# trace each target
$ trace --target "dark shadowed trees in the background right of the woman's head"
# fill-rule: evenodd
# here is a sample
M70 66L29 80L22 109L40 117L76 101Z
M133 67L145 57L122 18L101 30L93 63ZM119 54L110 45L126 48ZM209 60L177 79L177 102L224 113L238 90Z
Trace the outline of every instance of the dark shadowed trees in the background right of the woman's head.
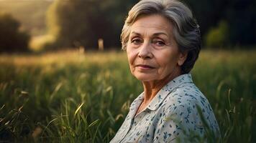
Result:
M198 23L201 26L201 34L204 41L218 39L221 32L213 29L218 27L221 20L227 22L229 29L227 41L230 46L256 44L256 1L255 0L184 0L191 6ZM204 39L205 38L205 39ZM207 43L206 43L207 44ZM225 44L221 44L222 46Z

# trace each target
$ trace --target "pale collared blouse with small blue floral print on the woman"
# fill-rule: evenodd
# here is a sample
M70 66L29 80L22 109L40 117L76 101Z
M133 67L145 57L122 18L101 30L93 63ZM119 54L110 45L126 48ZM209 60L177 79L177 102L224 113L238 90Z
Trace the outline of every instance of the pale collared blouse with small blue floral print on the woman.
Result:
M188 142L186 139L191 134L204 137L208 131L219 136L219 125L211 105L193 84L191 74L183 74L170 81L135 116L143 99L142 92L132 102L124 123L111 143Z

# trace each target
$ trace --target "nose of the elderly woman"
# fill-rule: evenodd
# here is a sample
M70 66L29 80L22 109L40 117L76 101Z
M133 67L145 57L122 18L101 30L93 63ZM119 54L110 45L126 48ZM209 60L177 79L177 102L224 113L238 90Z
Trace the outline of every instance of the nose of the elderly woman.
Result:
M140 46L140 51L138 56L142 59L151 59L152 58L152 51L151 51L151 47L150 47L150 42L144 42L141 46Z

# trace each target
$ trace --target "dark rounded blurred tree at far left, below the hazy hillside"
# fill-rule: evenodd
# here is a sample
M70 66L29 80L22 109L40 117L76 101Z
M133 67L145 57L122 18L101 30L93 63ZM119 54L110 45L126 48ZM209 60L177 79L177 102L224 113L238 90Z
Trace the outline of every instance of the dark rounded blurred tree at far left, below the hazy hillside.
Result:
M30 36L19 26L10 14L0 14L0 52L28 51Z

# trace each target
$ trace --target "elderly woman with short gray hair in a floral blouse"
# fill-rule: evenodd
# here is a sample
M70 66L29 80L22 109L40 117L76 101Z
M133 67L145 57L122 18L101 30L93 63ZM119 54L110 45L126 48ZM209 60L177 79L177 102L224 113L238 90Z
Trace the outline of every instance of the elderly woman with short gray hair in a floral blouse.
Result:
M191 10L180 1L142 0L129 11L121 39L144 92L132 102L111 142L218 137L213 110L189 74L201 49Z

